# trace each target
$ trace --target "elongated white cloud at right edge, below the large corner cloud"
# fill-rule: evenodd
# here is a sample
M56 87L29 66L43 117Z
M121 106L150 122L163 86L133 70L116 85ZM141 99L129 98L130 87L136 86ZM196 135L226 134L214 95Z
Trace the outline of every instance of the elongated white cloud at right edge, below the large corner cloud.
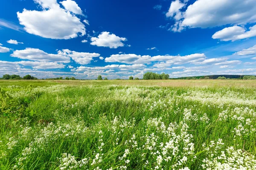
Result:
M246 31L241 26L232 26L215 32L212 35L213 39L220 39L221 41L236 41L256 36L256 25L249 28L250 31Z

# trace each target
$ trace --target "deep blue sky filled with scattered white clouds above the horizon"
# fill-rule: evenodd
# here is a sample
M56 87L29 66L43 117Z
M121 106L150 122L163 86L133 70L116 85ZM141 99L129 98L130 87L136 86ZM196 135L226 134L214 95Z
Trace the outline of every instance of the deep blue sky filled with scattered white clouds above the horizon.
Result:
M0 76L256 75L255 0L6 0Z

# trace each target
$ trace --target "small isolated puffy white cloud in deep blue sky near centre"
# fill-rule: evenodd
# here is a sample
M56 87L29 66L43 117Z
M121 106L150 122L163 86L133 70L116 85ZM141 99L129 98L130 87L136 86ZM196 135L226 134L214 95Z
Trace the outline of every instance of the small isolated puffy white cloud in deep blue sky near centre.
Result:
M97 45L99 47L118 48L123 47L122 41L126 41L126 38L118 37L115 34L109 34L109 32L102 32L98 37L91 38L91 45Z

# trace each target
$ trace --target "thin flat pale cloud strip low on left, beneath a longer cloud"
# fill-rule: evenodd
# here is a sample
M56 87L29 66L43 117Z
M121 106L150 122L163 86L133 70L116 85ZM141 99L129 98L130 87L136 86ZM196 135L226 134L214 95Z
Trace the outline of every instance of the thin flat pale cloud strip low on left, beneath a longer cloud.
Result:
M36 68L36 69L65 68L65 65L57 62L20 61L16 63L21 65L31 66L32 68Z

